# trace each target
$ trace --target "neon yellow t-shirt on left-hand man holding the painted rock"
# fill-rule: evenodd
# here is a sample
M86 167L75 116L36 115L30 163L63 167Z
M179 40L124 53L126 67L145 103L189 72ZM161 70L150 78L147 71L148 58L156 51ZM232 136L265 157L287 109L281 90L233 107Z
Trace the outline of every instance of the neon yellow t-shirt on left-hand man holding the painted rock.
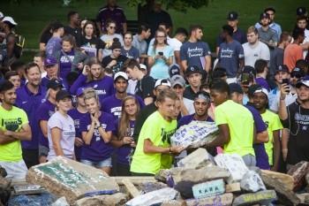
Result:
M131 172L155 174L160 168L170 168L172 156L164 156L161 153L145 154L144 140L149 139L155 146L168 148L170 147L170 136L175 133L176 127L176 121L166 121L158 111L150 115L141 128L139 142L131 164Z

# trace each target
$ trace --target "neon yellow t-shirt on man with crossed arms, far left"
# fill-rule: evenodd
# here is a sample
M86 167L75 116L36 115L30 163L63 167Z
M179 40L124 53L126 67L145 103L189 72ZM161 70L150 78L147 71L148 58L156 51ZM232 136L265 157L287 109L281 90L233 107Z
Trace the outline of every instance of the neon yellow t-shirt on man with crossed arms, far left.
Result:
M2 131L19 132L21 126L28 124L26 112L12 107L11 111L6 111L0 106L0 123ZM18 162L22 160L22 150L20 141L13 141L8 144L0 144L0 161Z

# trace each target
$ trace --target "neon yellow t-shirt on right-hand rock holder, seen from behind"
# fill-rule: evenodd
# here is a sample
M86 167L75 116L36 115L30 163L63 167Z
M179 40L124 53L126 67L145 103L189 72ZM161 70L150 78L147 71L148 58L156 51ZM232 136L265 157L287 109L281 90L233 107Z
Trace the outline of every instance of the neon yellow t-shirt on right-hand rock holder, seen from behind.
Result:
M243 105L231 100L215 108L215 125L228 124L230 127L230 142L224 145L224 154L255 156L252 148L253 123L252 113Z

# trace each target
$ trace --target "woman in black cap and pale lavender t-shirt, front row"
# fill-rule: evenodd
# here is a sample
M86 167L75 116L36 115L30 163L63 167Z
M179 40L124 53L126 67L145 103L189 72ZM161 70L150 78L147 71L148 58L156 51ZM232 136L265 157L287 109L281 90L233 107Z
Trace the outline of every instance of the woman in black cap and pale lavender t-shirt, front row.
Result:
M72 95L66 90L60 90L56 95L57 112L49 118L49 156L52 160L57 156L76 160L74 155L75 129L74 121L67 114L72 107Z

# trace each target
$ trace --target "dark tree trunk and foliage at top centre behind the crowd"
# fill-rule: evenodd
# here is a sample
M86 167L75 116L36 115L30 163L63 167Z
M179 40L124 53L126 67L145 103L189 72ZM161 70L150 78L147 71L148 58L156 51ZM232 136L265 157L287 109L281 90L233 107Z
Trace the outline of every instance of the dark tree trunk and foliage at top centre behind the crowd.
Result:
M157 0L157 3L166 5L166 10L174 9L175 11L185 12L189 8L200 9L207 6L209 0ZM153 9L154 0L127 0L131 7L138 7L139 24L142 23L148 11Z

